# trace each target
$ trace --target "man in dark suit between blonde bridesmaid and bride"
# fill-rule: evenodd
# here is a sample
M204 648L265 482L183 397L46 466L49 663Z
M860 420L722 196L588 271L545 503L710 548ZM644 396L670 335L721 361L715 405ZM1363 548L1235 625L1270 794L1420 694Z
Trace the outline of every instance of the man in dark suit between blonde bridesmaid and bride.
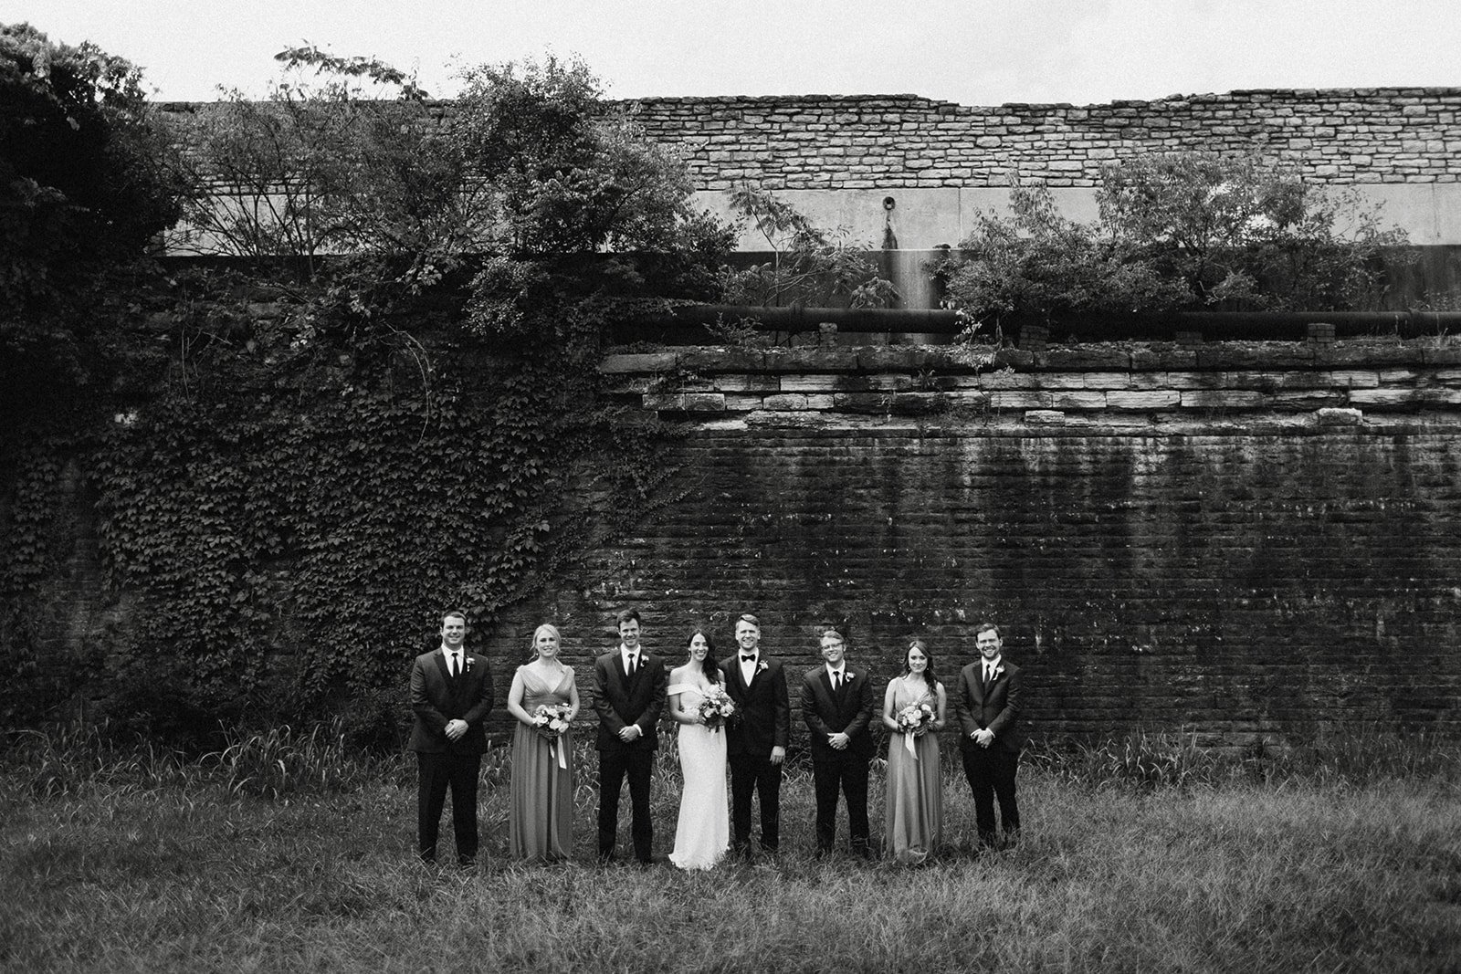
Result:
M619 790L630 780L634 815L634 859L650 863L655 827L649 815L649 783L655 771L655 733L665 708L669 676L665 662L640 648L640 616L633 609L619 613L619 647L593 663L599 714L599 859L614 859L619 831Z

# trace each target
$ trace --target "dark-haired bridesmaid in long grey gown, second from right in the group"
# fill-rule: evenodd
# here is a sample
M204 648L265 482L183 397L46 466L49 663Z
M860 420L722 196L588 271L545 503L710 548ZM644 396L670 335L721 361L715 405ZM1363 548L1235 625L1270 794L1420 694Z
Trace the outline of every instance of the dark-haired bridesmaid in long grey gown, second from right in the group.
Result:
M899 711L929 704L934 720L915 733L899 727ZM903 657L903 675L888 680L882 695L882 723L888 729L888 784L884 827L888 854L899 863L928 860L944 831L944 777L938 761L938 733L944 729L947 698L934 678L934 657L923 640L913 640Z

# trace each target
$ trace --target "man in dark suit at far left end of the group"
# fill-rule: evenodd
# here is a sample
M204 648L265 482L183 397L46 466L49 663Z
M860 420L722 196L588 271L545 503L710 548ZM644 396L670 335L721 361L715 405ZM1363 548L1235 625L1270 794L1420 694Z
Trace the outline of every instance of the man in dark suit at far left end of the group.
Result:
M416 845L421 859L437 860L437 835L447 787L457 862L476 862L476 783L487 751L484 721L492 710L492 675L487 659L468 653L466 615L441 616L441 647L411 666L409 748L416 752Z

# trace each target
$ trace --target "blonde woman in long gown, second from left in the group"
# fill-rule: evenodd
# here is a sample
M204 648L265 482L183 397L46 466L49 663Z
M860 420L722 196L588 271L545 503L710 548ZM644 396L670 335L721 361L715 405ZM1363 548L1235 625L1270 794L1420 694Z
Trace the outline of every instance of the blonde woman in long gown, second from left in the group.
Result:
M517 718L513 732L508 854L551 862L573 853L573 735L541 729L539 707L567 705L571 723L579 713L573 667L558 660L558 629L533 632L538 657L517 667L507 691L507 710Z

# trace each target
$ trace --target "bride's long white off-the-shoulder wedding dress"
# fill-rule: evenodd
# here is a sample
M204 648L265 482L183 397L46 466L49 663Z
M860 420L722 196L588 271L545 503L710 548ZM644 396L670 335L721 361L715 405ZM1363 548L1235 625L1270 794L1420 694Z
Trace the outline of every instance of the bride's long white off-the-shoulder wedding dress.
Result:
M704 699L694 683L675 683L666 691L682 694L681 707L691 710ZM669 862L681 869L710 869L730 847L730 803L726 797L726 732L704 724L679 724L679 771L685 787L679 794L679 821Z

